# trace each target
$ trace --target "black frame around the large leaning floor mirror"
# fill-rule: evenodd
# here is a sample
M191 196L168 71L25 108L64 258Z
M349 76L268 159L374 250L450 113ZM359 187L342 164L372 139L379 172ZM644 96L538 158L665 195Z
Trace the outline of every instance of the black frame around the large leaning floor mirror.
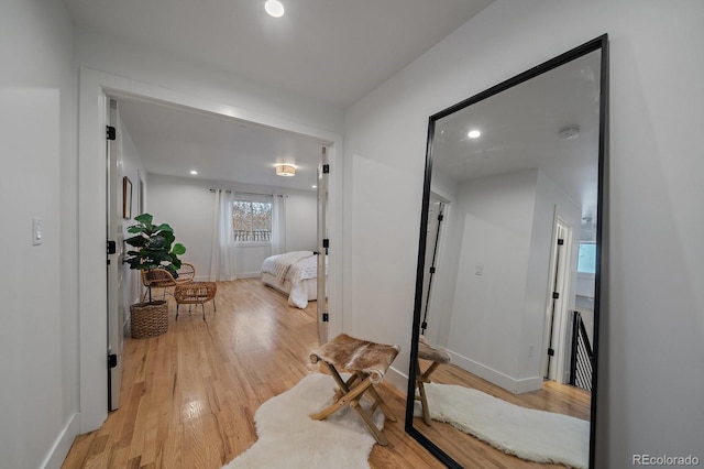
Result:
M422 211L420 216L420 237L418 248L418 264L416 270L416 297L414 303L414 324L411 330L410 343L410 366L408 371L408 389L406 394L406 424L405 429L414 439L428 449L438 460L449 468L459 468L462 466L452 459L435 443L428 439L422 433L414 427L414 406L416 393L416 375L418 367L418 337L420 334L420 317L422 306L422 281L424 266L426 258L427 225L428 225L428 206L430 203L430 182L432 176L432 142L435 140L436 121L447 117L455 111L466 108L475 102L482 101L491 96L502 92L508 88L519 85L528 79L535 78L543 73L566 64L578 57L586 55L594 51L602 51L601 56L601 89L600 89L600 123L598 123L598 190L597 190L597 216L596 216L596 266L594 275L594 346L593 346L593 374L592 374L592 397L590 408L590 468L593 469L595 461L595 439L596 439L596 390L597 390L597 371L598 367L598 335L600 335L600 303L601 303L601 281L603 277L603 239L604 237L604 214L605 205L605 186L604 174L608 162L608 34L603 34L592 41L588 41L564 54L558 55L534 68L530 68L513 78L509 78L496 86L493 86L473 97L458 102L438 113L430 116L428 120L428 143L426 146L426 172L422 189Z

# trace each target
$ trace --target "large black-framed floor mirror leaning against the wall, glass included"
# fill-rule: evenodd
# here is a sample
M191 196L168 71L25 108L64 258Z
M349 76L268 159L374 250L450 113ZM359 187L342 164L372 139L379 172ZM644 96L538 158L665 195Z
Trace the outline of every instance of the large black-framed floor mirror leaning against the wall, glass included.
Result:
M607 47L430 117L406 430L448 467L594 467Z

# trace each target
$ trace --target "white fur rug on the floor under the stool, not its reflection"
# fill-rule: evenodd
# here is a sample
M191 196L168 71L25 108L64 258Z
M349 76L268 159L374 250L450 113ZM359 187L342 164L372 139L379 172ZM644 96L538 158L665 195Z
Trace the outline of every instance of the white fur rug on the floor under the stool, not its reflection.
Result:
M258 439L223 469L369 468L376 440L356 412L345 406L324 421L310 418L332 403L336 389L332 377L309 374L266 401L254 415ZM384 414L374 418L382 427Z

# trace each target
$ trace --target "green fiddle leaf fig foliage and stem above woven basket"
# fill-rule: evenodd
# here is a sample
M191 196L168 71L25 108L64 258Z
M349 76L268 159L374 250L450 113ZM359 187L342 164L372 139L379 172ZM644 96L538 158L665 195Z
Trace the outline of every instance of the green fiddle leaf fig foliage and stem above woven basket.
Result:
M176 240L174 229L168 223L154 225L150 214L139 215L134 220L138 223L128 227L128 232L134 236L124 240L135 248L128 251L124 260L130 264L130 269L146 270L147 279L148 272L154 269L164 269L174 279L178 277L178 269L180 269L178 257L186 252L186 248L179 242L174 242ZM151 303L152 288L148 288L148 292Z

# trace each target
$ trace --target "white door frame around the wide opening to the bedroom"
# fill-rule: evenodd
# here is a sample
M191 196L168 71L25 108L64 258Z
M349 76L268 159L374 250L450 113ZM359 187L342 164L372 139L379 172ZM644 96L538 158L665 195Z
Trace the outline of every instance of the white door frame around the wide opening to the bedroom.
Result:
M292 122L256 109L243 109L224 102L198 98L180 91L147 85L105 72L81 67L78 92L78 327L79 327L79 433L99 428L108 416L107 374L107 285L105 240L106 219L105 129L108 96L147 99L190 108L201 112L276 128L319 140L328 148L331 161L342 155L342 137L328 130ZM342 164L330 172L328 211L331 252L329 263L328 325L331 335L342 328ZM98 220L98 221L96 221Z

